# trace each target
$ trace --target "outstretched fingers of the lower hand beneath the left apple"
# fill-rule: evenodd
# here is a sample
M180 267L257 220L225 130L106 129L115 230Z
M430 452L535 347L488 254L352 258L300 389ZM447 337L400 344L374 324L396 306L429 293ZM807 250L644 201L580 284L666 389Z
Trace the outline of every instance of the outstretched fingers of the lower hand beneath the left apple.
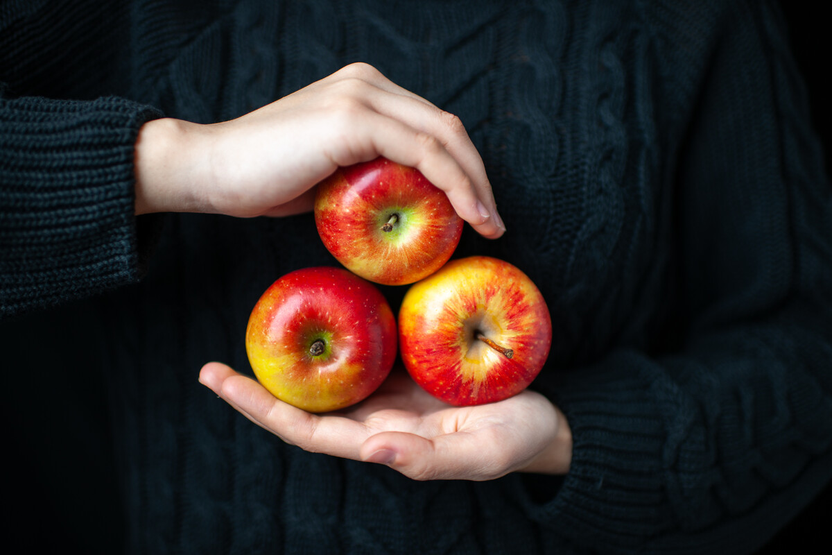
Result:
M369 435L362 424L353 420L334 414L310 414L284 403L254 379L225 364L203 366L200 382L247 419L287 444L312 453L359 460L359 449Z

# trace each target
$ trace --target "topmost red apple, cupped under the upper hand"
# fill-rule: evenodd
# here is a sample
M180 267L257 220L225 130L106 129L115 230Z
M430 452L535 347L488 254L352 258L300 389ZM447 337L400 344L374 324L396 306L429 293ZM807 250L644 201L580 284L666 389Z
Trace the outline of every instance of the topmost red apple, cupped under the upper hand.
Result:
M397 220L385 231L393 215ZM341 264L384 285L433 274L453 255L463 231L443 191L417 169L383 157L339 168L322 181L314 219Z

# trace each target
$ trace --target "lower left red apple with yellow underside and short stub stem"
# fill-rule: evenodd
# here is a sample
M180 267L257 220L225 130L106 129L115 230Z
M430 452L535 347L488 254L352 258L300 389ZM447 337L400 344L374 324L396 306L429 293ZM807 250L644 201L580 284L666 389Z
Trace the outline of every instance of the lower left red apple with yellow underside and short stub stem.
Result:
M313 354L317 340L323 352ZM295 270L257 301L245 349L260 384L314 413L372 394L396 357L396 323L384 295L342 268ZM320 345L320 344L319 344Z

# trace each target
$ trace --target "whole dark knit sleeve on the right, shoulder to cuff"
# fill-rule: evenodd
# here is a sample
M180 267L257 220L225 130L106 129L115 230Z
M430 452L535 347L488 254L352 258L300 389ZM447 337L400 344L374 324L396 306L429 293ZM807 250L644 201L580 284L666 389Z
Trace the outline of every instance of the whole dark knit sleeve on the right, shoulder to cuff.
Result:
M553 545L749 553L832 477L832 190L779 18L748 3L681 143L681 347L541 386L574 439L557 495L522 499Z

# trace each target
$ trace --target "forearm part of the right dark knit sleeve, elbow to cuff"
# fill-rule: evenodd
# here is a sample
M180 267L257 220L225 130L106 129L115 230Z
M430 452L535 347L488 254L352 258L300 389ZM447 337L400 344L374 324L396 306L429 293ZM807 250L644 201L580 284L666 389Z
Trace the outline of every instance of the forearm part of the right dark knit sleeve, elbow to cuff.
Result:
M830 405L815 378L828 334L800 330L801 306L795 320L724 330L685 357L620 350L536 380L573 446L556 493L521 490L529 517L599 553L758 547L832 474L820 463L832 456Z

